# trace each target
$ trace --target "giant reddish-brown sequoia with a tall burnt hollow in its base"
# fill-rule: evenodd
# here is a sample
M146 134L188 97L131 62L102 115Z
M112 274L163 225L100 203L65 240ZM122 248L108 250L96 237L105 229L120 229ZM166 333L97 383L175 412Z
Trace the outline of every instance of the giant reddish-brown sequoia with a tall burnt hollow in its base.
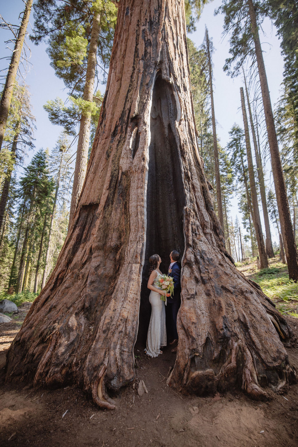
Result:
M104 408L134 379L147 259L182 256L170 386L255 398L292 376L284 318L236 270L197 150L184 2L121 0L86 179L57 265L7 358L6 379L76 383ZM273 322L273 324L272 324ZM143 329L145 328L145 329ZM293 373L294 374L294 373Z

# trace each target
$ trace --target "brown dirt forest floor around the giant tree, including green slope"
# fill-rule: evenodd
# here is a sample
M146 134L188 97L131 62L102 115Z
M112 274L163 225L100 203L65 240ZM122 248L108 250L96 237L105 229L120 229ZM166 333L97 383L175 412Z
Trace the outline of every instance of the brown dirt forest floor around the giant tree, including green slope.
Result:
M267 289L265 293L271 293L281 306L294 333L293 346L287 348L290 364L298 371L297 285L289 282L285 266L270 267L271 272L261 275L255 263L241 265L239 270L260 283L263 290L267 287L269 293ZM21 304L13 321L0 326L0 446L298 445L298 384L269 402L253 401L242 392L203 398L183 396L166 384L165 378L176 358L172 347L153 359L143 353L144 346L135 347L136 378L114 397L114 411L98 409L77 388L49 390L5 385L6 351L30 305ZM137 392L140 380L148 390L143 396Z

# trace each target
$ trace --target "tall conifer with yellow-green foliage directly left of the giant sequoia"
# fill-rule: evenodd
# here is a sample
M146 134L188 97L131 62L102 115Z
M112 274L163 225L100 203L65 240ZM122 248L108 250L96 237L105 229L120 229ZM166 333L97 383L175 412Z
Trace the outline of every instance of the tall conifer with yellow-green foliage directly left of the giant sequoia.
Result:
M87 168L92 114L97 112L93 102L97 56L105 67L109 62L117 9L110 0L74 1L67 8L53 0L50 6L41 0L34 5L37 32L32 39L36 43L46 39L51 65L70 89L71 100L80 109L70 225Z

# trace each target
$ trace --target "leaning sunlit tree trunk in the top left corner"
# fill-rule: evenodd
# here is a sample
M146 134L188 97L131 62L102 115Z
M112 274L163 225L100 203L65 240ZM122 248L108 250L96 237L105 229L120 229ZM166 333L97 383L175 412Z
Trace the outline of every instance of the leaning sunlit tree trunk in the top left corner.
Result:
M27 0L0 102L0 151L33 0Z

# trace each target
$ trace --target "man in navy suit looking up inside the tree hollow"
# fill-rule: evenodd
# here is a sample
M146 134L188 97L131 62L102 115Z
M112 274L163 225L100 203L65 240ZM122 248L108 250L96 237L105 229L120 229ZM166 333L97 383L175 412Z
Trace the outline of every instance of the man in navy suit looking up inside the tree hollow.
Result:
M168 298L168 305L170 308L170 318L172 323L172 334L173 341L170 343L171 345L176 344L178 342L178 333L177 333L177 313L181 304L181 283L180 283L180 274L181 274L181 264L178 262L180 258L180 253L176 250L173 250L170 254L171 264L168 270L168 276L172 276L174 279L174 294L172 298ZM172 349L172 352L177 352L177 346Z

